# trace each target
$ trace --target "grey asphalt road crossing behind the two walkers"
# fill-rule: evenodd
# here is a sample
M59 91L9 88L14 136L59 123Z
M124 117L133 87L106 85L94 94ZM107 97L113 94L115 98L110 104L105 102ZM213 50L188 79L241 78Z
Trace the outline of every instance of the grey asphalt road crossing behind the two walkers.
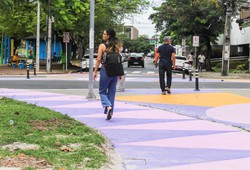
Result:
M152 64L152 59L145 60L145 68L129 67L124 68L127 72L125 86L127 89L156 89L159 88L158 69ZM150 73L150 74L147 74ZM179 74L179 78L177 74ZM0 77L0 88L11 89L88 89L88 80L63 80L47 79L40 76L40 79L26 79L25 76ZM195 88L195 78L189 81L189 77L183 80L180 73L173 73L172 87L176 89ZM98 81L94 82L94 88L98 88ZM200 89L249 89L249 82L237 81L204 81L199 80Z

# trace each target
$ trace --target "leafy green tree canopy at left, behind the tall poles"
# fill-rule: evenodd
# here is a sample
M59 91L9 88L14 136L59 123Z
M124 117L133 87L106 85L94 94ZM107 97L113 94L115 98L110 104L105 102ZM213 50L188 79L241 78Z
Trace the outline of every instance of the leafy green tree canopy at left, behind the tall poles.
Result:
M62 40L63 32L70 32L73 47L75 51L78 50L81 57L89 41L89 0L40 0L40 2L41 35L46 34L46 15L53 16L55 34ZM95 2L96 46L101 42L105 28L117 28L127 14L138 13L148 5L148 0L96 0ZM3 0L0 4L0 31L17 38L35 35L36 6L36 0Z

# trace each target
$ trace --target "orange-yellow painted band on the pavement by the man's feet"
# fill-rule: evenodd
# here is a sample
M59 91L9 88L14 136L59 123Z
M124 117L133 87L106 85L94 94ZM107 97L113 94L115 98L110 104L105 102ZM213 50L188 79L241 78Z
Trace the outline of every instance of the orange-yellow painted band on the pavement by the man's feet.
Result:
M250 98L231 93L192 93L192 94L170 94L170 95L131 95L117 96L116 100L176 104L189 106L218 107L224 105L250 103Z

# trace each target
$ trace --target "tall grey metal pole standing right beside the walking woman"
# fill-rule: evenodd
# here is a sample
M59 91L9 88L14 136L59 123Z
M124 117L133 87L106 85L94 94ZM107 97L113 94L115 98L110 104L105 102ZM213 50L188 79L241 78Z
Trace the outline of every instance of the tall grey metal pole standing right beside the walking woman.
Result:
M94 16L95 0L90 0L90 30L89 30L89 92L87 99L95 99L93 92L93 58L94 58Z

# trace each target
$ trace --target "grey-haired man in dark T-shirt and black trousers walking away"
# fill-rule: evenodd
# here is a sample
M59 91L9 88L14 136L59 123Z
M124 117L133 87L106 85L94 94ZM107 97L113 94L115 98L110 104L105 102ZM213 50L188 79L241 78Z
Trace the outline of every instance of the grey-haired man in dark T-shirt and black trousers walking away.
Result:
M159 67L159 80L162 95L171 93L171 83L172 83L172 69L176 69L175 66L175 48L171 45L171 37L164 37L164 44L156 49L156 55L154 59L154 64ZM165 74L167 75L167 80L165 83ZM167 86L166 86L167 84Z

